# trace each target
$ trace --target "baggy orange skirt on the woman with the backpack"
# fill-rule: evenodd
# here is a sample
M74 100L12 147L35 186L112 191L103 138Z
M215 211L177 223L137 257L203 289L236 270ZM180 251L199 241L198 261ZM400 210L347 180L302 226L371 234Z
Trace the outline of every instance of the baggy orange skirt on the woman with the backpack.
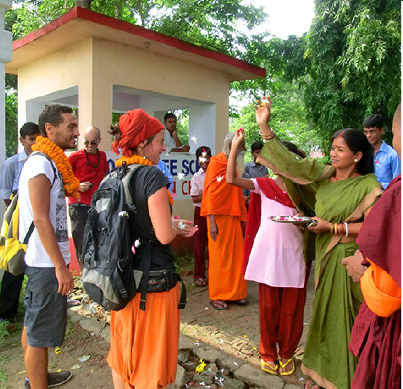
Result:
M174 383L181 315L179 284L169 292L147 293L145 311L140 293L110 315L108 364L126 389L162 389Z

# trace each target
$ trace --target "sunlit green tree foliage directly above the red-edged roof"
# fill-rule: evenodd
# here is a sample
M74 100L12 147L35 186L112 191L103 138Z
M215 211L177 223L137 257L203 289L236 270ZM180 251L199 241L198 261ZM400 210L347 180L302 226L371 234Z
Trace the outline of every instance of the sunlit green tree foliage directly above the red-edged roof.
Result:
M71 7L93 11L141 25L218 52L259 64L254 54L264 46L251 29L265 21L263 7L245 6L242 0L38 0L15 1L8 11L15 38L56 19Z

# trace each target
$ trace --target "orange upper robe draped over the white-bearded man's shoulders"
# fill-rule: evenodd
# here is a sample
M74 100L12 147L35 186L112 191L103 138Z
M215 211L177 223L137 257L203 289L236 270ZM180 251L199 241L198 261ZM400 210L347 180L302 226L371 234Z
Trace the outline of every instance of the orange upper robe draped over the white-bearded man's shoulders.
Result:
M225 180L227 159L223 152L210 159L204 180L202 216L225 215L247 219L245 200L241 188Z

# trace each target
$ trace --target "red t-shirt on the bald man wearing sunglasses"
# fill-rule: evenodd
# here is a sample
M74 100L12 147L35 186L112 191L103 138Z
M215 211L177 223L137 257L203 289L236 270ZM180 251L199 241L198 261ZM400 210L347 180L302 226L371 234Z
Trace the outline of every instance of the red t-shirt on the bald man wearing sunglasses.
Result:
M98 153L97 154L87 154L87 157L93 166L96 166L98 163ZM69 204L73 203L83 203L87 205L91 205L91 197L93 192L98 189L102 179L105 174L108 173L108 160L106 159L106 154L104 151L99 150L99 165L97 168L93 168L85 156L85 150L81 149L79 151L75 151L69 155L69 161L71 164L71 168L75 176L80 180L80 182L89 181L93 186L86 190L85 192L79 192L80 199L74 199L73 197L69 197Z

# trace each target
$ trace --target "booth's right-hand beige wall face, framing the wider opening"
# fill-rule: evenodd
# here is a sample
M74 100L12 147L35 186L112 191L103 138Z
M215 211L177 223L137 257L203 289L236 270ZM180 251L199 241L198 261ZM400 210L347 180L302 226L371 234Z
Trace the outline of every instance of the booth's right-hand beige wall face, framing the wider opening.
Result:
M108 85L121 85L216 103L216 144L221 148L229 119L229 79L222 72L101 39L94 39L93 64L94 95L102 86L105 91ZM106 114L100 112L98 119L106 120Z

